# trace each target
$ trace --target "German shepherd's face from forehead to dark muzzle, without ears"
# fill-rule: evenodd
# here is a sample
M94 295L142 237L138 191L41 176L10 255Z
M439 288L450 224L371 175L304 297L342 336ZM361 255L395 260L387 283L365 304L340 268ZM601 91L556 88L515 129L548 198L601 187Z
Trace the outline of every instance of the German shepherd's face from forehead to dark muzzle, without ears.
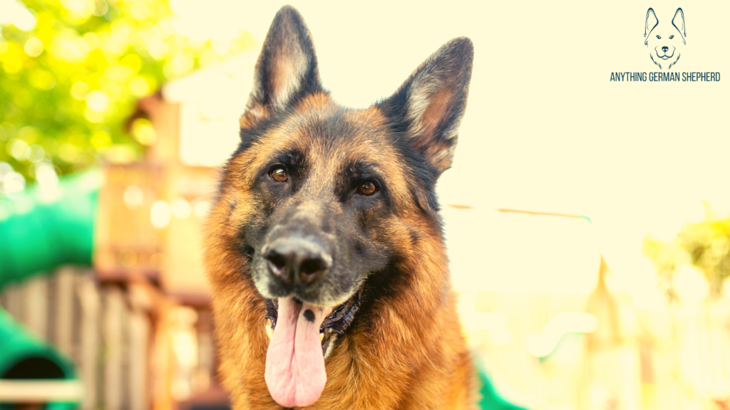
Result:
M368 272L387 263L390 252L377 235L383 229L380 221L388 220L394 209L388 175L377 155L364 150L344 153L353 152L356 142L361 147L372 144L358 138L359 125L344 120L340 109L316 114L287 122L283 147L272 150L256 169L251 186L251 196L257 198L253 220L266 223L246 225L242 233L255 250L252 274L262 295L293 294L334 306L349 298ZM281 170L286 179L277 181L272 171ZM376 190L363 193L364 184ZM272 260L272 252L282 258L299 253L304 258L301 263L314 260L323 272L308 282L299 277L297 266ZM278 277L276 263L294 271Z

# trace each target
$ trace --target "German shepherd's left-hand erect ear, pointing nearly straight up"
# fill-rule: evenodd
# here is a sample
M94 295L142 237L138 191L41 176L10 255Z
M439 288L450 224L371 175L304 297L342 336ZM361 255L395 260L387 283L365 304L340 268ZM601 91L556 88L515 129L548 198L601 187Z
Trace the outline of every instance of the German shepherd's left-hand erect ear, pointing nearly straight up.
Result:
M258 55L241 126L280 112L301 93L318 90L321 83L312 35L295 8L282 7Z

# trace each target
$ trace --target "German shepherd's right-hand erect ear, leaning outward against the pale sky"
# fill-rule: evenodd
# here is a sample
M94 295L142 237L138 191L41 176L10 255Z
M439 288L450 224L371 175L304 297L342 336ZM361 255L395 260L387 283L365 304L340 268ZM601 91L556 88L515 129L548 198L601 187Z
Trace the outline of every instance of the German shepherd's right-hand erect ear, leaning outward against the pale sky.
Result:
M453 39L424 61L393 96L378 104L438 174L453 161L473 59L472 41Z

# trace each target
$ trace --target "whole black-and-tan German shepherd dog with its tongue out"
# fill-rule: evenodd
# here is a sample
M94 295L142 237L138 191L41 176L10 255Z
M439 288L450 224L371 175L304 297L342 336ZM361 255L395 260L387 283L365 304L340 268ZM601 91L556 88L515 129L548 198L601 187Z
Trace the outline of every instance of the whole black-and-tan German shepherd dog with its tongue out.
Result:
M453 39L393 96L348 109L299 12L277 12L207 231L234 409L475 409L434 193L472 59Z

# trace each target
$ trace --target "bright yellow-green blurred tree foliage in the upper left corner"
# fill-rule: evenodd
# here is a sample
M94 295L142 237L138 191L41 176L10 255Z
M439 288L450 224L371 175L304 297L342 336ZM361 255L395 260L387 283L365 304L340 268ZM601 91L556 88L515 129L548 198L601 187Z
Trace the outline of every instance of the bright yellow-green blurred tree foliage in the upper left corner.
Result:
M138 98L253 46L244 31L226 42L177 33L167 1L23 5L34 27L0 26L0 187L8 172L31 182L44 166L67 174L139 158L155 135L145 120L127 124Z

